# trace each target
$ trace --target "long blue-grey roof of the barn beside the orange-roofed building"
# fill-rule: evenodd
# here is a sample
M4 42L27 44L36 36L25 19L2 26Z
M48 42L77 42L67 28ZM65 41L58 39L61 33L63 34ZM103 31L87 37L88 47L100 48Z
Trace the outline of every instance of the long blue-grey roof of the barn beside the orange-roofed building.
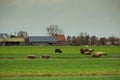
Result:
M55 43L57 39L53 36L29 36L29 42L49 42Z

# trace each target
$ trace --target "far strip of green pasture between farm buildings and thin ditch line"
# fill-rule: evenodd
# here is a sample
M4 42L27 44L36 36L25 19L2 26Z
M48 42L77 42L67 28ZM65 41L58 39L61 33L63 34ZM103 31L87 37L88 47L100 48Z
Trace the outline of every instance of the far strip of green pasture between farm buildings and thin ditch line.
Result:
M60 48L63 53L55 54L54 49ZM82 55L80 48L84 46L5 46L0 47L0 59L26 58L28 54L40 57L49 54L52 58L91 58L91 55ZM90 46L95 52L103 51L109 58L120 58L120 46ZM94 54L93 53L93 54Z

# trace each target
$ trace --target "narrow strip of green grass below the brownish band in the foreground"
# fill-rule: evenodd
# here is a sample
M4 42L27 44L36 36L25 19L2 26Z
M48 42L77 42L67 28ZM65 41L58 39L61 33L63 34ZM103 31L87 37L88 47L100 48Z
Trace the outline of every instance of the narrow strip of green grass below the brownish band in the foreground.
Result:
M3 77L0 80L119 80L120 76Z

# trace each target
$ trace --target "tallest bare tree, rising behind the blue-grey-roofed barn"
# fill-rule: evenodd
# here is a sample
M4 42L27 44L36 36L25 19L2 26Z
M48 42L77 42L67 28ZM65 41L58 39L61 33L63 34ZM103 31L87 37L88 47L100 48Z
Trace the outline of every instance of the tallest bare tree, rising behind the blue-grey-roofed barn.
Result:
M47 32L49 35L58 35L58 34L63 34L63 30L58 27L58 25L50 25L47 27Z

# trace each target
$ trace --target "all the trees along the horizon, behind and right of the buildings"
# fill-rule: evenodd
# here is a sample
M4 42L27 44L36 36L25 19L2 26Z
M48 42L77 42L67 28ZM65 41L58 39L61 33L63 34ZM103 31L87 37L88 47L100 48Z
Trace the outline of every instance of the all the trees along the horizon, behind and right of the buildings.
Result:
M63 29L59 28L58 25L50 25L46 28L49 36L55 35L64 35ZM22 36L25 39L28 37L26 31L19 31L17 36ZM15 35L11 35L11 38ZM98 38L97 36L89 36L88 33L81 32L79 36L70 36L66 37L66 45L80 46L80 45L120 45L120 38L115 36L109 36Z

